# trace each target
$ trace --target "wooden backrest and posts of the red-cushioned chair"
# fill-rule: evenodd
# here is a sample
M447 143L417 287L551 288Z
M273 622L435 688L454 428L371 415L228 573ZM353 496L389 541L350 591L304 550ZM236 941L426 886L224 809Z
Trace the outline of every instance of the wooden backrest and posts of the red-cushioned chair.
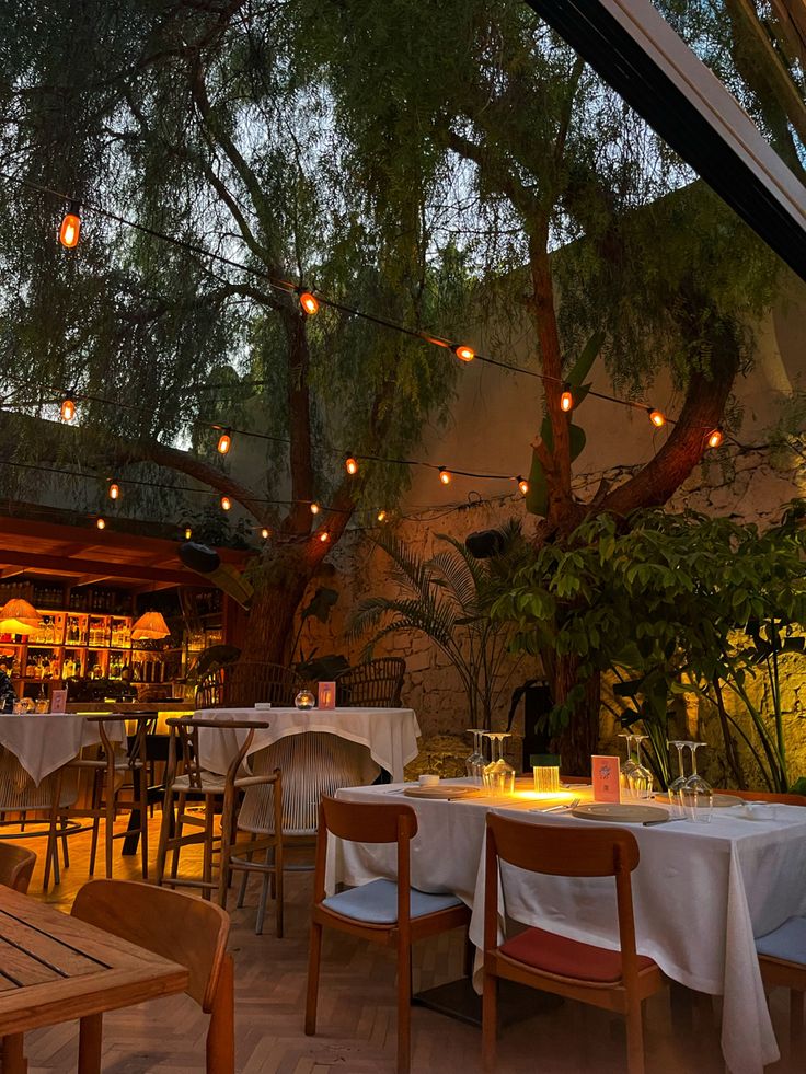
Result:
M484 947L496 946L498 862L519 869L561 877L607 877L615 880L619 938L625 984L637 981L635 921L630 874L638 864L638 844L620 828L574 828L530 824L487 813L484 884Z

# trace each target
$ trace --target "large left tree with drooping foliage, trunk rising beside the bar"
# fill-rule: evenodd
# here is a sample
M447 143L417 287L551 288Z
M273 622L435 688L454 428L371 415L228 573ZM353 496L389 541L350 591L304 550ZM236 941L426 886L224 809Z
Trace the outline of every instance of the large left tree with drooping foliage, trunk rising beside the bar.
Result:
M445 414L453 372L416 340L327 309L309 317L293 286L272 281L450 327L465 272L430 242L431 178L367 194L369 165L329 130L283 4L7 0L0 13L4 172L143 229L85 210L67 253L54 242L67 206L2 185L7 462L113 472L127 496L145 464L158 482L179 471L240 501L274 534L244 656L281 661L304 589L355 511L392 506L405 486L404 466L348 477L344 454L405 455L424 416ZM384 135L396 138L391 117ZM67 390L81 393L69 432L43 420ZM266 438L256 485L216 454L211 424ZM18 495L19 473L5 472ZM327 505L319 519L314 500ZM172 503L160 505L169 517Z

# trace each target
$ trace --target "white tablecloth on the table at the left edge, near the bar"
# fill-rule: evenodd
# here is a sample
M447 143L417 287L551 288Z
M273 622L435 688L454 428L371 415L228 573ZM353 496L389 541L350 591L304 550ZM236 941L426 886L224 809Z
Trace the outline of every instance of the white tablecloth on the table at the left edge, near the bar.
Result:
M126 725L123 720L110 721L106 735L113 742L125 742ZM100 741L99 725L82 716L60 713L0 715L0 746L14 754L37 787L46 775L72 761L85 746Z

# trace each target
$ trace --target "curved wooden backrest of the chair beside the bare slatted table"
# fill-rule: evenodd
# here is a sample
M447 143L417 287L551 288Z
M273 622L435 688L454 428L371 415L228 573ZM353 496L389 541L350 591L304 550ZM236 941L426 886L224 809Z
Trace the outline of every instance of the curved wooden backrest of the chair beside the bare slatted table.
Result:
M230 932L230 919L220 906L135 880L90 880L70 912L186 967L187 994L211 1011Z

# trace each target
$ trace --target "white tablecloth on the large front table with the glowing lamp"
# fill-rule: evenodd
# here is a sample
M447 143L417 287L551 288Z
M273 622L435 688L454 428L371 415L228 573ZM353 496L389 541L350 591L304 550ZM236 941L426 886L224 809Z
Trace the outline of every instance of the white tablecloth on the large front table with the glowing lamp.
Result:
M399 789L399 788L398 788ZM338 797L381 801L395 787L350 788ZM577 792L575 792L576 794ZM582 794L582 793L580 793ZM412 884L453 891L473 910L471 939L483 943L483 840L487 810L509 816L495 800L431 801L396 795L417 812ZM526 811L533 823L589 824L568 815ZM533 802L531 804L534 805ZM806 913L806 809L774 806L741 816L742 807L714 810L711 824L627 825L641 862L633 874L638 951L689 988L723 995L722 1044L733 1074L761 1074L779 1058L761 986L753 936ZM756 818L762 819L756 819ZM327 885L364 884L394 876L394 847L342 844ZM612 880L536 877L506 869L507 913L574 939L618 946Z

